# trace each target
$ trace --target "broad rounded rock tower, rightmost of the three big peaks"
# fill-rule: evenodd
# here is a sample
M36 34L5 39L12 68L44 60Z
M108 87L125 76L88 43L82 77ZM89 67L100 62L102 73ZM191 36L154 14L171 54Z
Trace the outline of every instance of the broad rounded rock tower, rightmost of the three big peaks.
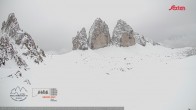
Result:
M135 38L133 35L131 26L123 20L118 20L113 31L112 44L122 47L135 45Z

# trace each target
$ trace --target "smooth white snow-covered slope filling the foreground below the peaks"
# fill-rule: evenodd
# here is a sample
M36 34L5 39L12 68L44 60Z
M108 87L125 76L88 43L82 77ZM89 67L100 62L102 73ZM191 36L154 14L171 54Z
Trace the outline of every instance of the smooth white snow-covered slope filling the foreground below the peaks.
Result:
M4 89L0 94L0 106L195 110L195 53L194 48L170 49L147 43L145 47L139 44L110 46L48 55L44 64L31 63L23 77L1 75L0 87ZM30 78L31 85L23 82L24 77ZM17 86L29 91L25 101L16 102L10 98L10 90ZM57 101L32 97L32 88L57 88Z

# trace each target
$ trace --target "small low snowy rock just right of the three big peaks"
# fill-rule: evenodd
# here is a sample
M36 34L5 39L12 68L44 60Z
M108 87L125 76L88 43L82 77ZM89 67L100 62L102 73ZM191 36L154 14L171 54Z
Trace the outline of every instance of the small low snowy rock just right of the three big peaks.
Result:
M138 43L142 46L146 46L147 40L145 39L145 37L143 35L140 35L138 33L134 33L134 38L135 38L136 43Z

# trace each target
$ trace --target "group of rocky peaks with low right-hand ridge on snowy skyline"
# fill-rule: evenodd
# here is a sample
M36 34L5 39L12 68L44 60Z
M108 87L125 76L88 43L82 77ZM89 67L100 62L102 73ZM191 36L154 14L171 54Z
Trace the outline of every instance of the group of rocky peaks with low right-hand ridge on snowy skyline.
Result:
M144 38L144 36L134 32L131 26L129 26L123 20L117 21L117 24L113 30L113 35L110 37L108 25L100 18L97 18L90 28L88 38L85 28L82 28L82 30L77 33L76 37L73 37L72 49L99 49L109 45L128 47L135 45L136 43L145 46L146 42L150 42L153 45L158 44L154 41L149 41Z

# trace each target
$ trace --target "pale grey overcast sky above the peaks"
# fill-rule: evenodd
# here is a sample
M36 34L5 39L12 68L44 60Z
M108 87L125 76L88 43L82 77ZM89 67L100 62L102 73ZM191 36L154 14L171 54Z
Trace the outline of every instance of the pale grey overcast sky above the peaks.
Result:
M172 5L185 11L169 11ZM0 0L0 22L14 12L20 27L46 51L71 50L72 37L100 17L110 29L118 19L135 32L170 47L196 47L195 0ZM112 36L112 35L111 35Z

